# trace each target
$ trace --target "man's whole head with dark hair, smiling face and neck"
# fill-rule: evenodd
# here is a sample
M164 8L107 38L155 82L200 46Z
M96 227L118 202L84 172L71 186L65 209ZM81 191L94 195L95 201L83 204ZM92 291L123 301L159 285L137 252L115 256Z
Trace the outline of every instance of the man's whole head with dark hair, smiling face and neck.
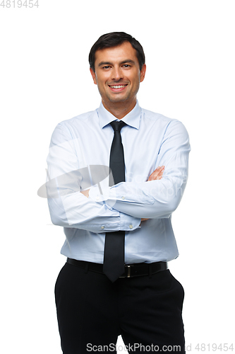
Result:
M104 107L122 118L134 108L140 82L145 77L143 47L131 35L108 33L92 46L89 62ZM119 117L117 110L123 112Z

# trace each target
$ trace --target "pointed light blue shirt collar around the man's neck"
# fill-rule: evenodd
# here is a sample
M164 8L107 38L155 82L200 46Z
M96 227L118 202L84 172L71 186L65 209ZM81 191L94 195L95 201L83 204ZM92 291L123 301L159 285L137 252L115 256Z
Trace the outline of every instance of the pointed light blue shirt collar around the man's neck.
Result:
M108 125L110 122L113 120L117 120L117 118L112 115L106 108L104 108L104 105L100 103L100 107L97 109L98 117L100 120L100 127L103 128L105 125ZM129 112L125 117L123 117L121 120L125 122L127 125L130 125L131 127L134 127L136 129L139 129L140 127L140 115L141 115L141 108L138 104L138 101L136 101L136 105Z

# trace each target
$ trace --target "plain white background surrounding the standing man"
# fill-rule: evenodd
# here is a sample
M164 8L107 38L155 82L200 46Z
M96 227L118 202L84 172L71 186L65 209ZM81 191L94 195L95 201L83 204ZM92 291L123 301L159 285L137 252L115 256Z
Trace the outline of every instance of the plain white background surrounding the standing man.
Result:
M64 234L52 225L37 189L45 182L56 124L100 105L88 52L100 35L116 30L133 35L145 50L140 106L181 120L191 139L188 185L172 216L180 256L169 264L186 292L186 346L200 353L194 348L205 343L204 353L210 353L212 343L230 345L234 1L39 5L0 6L1 353L61 353L54 282L65 262Z

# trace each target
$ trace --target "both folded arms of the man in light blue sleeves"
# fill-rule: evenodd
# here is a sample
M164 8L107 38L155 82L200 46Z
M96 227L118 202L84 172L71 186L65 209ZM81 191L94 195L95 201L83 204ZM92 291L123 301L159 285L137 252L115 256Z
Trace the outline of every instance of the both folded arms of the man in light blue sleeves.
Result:
M189 151L186 129L181 122L172 122L157 155L159 167L147 181L104 185L102 193L97 185L81 192L71 183L63 188L58 185L59 198L48 199L52 222L101 233L120 229L133 231L145 219L170 217L186 186ZM56 127L47 161L50 178L79 169L71 132L66 125ZM65 188L71 193L62 193Z

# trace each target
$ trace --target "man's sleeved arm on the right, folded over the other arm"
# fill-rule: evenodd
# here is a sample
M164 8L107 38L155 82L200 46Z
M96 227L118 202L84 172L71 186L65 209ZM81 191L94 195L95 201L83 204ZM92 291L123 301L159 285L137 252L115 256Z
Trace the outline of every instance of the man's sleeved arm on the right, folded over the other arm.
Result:
M147 142L146 142L147 144ZM171 120L159 149L157 166L165 166L161 179L142 183L121 182L102 190L97 186L89 191L89 197L101 200L119 212L140 218L167 218L181 201L188 179L188 132L181 122ZM146 149L147 151L147 149Z

